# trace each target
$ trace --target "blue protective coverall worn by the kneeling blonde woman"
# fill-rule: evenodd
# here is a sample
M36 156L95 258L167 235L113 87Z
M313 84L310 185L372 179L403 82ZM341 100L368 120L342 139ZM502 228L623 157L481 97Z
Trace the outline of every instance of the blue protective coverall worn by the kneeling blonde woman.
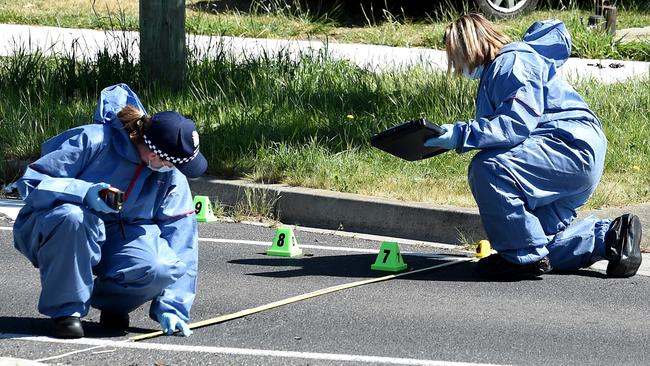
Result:
M562 22L535 23L485 65L476 119L454 125L458 152L481 149L469 184L492 247L513 263L548 256L554 269L575 270L604 258L611 220L569 226L607 150L600 121L557 75L570 54Z

